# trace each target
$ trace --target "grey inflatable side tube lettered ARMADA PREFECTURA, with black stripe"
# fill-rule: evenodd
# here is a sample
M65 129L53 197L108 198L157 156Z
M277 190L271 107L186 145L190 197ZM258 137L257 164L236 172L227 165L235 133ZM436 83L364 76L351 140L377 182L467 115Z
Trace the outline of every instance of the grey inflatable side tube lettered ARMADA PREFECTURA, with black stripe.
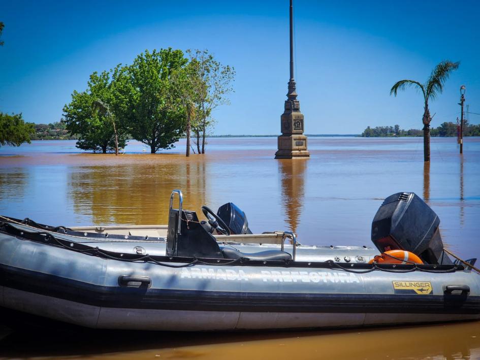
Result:
M480 318L480 276L470 271L360 273L305 263L164 265L102 258L2 233L0 306L87 328L165 331ZM122 283L125 276L149 281ZM470 291L446 294L449 285Z

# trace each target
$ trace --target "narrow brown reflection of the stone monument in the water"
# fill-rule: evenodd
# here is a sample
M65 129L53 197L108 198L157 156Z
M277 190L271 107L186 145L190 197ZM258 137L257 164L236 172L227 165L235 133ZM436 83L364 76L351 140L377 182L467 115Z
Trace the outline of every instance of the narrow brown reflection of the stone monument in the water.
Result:
M304 206L307 161L308 159L278 160L282 208L290 229L295 233Z

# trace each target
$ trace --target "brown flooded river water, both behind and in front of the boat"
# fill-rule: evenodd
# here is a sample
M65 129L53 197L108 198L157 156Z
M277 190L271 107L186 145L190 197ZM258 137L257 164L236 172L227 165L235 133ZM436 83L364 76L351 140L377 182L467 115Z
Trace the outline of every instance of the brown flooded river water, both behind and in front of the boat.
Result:
M311 158L274 160L276 138L209 139L186 159L132 142L119 156L86 154L72 141L0 148L0 214L51 225L167 222L170 192L184 208L234 202L254 233L293 230L303 244L371 245L382 199L414 191L440 217L451 251L480 258L480 138L309 138ZM336 332L252 334L90 333L5 330L1 356L123 358L480 358L480 323ZM9 334L9 335L6 335ZM45 345L47 342L47 345ZM3 350L2 350L3 349Z

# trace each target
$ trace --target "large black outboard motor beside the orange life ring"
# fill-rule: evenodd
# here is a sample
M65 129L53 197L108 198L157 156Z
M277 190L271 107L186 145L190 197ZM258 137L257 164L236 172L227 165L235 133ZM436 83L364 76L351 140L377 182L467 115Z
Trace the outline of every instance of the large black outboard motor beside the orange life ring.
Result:
M372 241L380 252L406 250L426 264L451 265L443 253L437 214L413 192L390 195L372 222Z

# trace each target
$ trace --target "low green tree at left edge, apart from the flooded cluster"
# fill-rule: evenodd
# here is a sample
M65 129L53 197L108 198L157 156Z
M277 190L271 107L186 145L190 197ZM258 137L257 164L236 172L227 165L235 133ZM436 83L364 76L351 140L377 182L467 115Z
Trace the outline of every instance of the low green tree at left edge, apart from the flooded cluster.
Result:
M0 146L29 144L34 135L35 124L25 122L21 113L9 115L0 112Z

